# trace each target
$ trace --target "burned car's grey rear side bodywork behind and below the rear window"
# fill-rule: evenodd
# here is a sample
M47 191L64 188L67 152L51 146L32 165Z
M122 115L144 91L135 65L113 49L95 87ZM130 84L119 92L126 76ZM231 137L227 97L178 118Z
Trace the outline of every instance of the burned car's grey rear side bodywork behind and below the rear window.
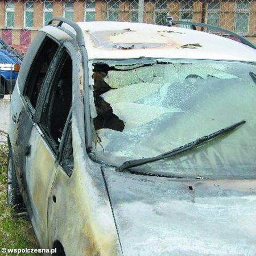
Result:
M26 204L28 213L31 213L30 202L27 196L26 185L26 169L24 166L24 158L26 154L26 147L28 139L30 138L33 121L32 115L28 112L26 101L22 95L24 84L26 82L27 73L30 69L31 63L38 51L40 44L43 42L45 34L39 32L36 39L31 43L28 53L24 57L23 63L20 67L19 77L16 81L14 92L11 98L10 111L10 125L9 137L11 143L11 150L13 150L14 168L17 174L19 188L22 192L24 203Z

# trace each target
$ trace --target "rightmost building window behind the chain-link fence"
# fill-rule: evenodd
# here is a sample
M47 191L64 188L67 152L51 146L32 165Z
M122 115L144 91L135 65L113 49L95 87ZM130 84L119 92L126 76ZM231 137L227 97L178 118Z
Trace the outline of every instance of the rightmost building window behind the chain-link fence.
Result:
M250 2L237 0L235 11L235 30L237 33L246 34L249 30Z

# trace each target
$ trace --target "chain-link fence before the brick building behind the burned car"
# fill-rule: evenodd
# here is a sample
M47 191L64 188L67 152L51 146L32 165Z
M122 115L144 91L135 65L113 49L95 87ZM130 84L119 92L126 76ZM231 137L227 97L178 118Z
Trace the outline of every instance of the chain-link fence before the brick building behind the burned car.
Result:
M221 26L255 43L256 0L0 1L0 36L22 55L52 16L75 22L112 20L164 24L167 16Z

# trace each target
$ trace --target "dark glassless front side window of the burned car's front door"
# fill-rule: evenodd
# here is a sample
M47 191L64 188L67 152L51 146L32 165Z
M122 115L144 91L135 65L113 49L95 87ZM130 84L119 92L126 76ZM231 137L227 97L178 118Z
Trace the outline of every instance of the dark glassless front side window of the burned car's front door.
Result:
M53 151L57 152L72 105L72 59L67 51L61 54L46 89L48 91L43 95L46 99L43 99L40 126Z

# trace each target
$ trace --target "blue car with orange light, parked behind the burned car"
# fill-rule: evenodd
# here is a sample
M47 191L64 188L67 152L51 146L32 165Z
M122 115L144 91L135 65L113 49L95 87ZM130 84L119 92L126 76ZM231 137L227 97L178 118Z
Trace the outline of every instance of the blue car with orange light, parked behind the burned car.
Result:
M22 56L0 39L0 98L13 92Z

